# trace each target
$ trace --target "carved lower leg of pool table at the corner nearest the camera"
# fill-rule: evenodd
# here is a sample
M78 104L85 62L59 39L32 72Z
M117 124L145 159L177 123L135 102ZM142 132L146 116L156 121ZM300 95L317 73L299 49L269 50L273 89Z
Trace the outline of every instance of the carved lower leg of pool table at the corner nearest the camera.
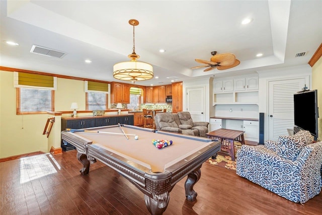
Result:
M153 194L153 198L144 194L145 205L152 215L162 214L168 206L170 195L169 192L163 194Z

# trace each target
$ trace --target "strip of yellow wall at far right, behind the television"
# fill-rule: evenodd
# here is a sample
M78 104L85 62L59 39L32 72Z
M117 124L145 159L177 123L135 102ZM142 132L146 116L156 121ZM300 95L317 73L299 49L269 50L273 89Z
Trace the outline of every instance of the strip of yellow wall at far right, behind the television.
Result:
M322 139L322 57L312 67L312 90L317 90L318 136Z

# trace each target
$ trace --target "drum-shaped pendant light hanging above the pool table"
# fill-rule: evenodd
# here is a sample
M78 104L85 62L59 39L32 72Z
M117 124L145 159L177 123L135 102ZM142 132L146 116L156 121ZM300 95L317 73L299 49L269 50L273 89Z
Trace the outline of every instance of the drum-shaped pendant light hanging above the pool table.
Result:
M113 77L122 81L145 81L153 78L153 68L150 64L136 61L140 56L135 53L134 26L139 21L131 19L129 24L133 26L133 52L128 57L130 61L119 62L113 66Z

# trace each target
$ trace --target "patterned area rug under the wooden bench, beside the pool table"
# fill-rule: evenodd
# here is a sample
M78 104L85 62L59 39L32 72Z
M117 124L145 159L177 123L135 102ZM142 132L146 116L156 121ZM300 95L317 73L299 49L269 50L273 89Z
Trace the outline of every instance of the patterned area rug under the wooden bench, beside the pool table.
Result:
M237 158L236 152L240 148L241 148L240 142L234 141L235 160ZM208 163L212 165L216 165L218 167L223 167L229 170L236 170L236 161L231 161L231 157L224 152L218 152L216 159L209 158Z

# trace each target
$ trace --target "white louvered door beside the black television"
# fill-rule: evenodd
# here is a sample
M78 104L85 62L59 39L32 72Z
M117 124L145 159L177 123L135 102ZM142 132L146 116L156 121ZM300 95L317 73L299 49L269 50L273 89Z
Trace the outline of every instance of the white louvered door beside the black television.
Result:
M293 95L305 86L305 79L269 82L269 139L278 140L294 127Z

